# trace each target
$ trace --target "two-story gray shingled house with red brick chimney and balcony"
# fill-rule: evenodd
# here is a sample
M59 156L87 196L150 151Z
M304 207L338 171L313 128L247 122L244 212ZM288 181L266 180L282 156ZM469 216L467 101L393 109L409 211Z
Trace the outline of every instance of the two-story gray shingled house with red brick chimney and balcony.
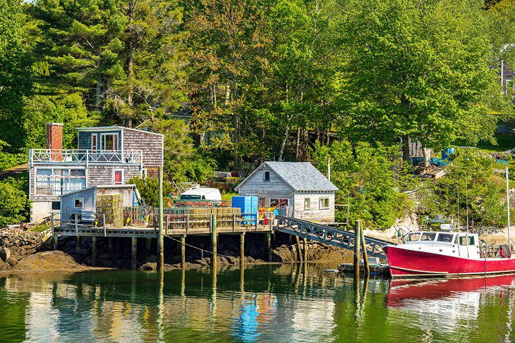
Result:
M61 210L61 195L97 186L132 204L131 177L157 177L164 137L129 127L78 127L77 149L63 149L63 124L47 123L47 148L29 151L30 219Z

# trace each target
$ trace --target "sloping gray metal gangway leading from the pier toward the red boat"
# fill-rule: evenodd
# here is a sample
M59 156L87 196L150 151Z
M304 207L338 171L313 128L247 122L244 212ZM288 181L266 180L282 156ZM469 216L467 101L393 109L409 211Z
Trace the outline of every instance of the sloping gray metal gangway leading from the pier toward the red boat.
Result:
M342 249L354 249L354 232L337 229L327 225L317 224L298 218L277 216L275 230L295 235L315 242L333 245ZM387 258L382 247L393 244L384 239L365 236L368 256Z

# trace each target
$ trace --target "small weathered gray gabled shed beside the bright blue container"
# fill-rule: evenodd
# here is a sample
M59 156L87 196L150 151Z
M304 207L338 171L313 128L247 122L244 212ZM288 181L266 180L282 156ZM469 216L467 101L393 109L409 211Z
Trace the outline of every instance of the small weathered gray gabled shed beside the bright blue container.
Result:
M299 219L334 222L334 194L338 188L309 162L265 162L236 187L239 195L253 195L260 206L289 207Z

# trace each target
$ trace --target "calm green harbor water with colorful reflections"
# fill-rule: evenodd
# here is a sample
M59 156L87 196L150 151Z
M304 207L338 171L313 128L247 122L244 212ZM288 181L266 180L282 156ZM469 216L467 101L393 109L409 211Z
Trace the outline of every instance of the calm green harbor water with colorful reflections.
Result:
M513 275L365 285L323 268L4 277L0 342L515 341Z

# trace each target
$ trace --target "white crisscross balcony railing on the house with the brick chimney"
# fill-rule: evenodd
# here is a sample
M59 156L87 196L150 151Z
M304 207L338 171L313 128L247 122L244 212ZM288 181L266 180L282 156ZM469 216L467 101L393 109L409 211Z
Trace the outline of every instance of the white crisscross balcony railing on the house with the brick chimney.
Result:
M30 163L128 163L143 161L141 150L30 149Z

